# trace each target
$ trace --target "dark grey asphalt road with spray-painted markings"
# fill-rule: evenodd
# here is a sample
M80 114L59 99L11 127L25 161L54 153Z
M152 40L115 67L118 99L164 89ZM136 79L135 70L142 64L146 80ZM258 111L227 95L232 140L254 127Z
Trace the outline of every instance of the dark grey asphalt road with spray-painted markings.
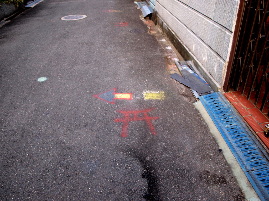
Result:
M140 15L45 0L0 28L0 200L243 200Z

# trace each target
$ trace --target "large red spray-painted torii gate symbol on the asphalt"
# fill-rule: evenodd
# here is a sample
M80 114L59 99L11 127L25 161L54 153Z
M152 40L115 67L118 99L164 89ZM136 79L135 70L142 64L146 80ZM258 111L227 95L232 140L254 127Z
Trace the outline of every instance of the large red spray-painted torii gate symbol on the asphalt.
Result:
M130 121L146 121L148 128L150 129L151 135L157 135L157 132L151 123L151 120L158 119L159 117L149 117L148 112L155 110L155 108L150 108L146 110L137 110L137 111L120 111L117 110L117 112L123 114L123 118L121 119L114 119L115 122L123 122L122 125L122 137L128 136L128 126Z

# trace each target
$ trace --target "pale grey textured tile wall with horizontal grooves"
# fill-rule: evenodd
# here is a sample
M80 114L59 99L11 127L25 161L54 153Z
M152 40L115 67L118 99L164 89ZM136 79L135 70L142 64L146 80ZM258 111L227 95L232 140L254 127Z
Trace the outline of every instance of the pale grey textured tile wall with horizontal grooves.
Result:
M158 16L223 84L239 0L156 0Z

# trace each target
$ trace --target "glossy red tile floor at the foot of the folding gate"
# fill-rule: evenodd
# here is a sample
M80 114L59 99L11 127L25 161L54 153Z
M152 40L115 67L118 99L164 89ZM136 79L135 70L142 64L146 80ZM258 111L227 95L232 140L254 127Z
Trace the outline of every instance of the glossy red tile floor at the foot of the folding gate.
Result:
M269 149L269 137L264 136L264 126L269 124L269 111L268 102L266 103L263 111L260 111L261 99L258 101L257 106L254 105L255 94L253 93L248 101L246 94L242 95L241 91L228 92L224 94L231 104L240 113L243 119L249 124L252 130L260 137L264 145Z

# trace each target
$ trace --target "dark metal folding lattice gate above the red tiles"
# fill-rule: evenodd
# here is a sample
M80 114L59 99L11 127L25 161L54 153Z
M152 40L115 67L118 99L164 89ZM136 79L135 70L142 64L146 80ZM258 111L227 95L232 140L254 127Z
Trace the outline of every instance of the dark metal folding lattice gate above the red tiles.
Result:
M248 0L244 6L229 84L263 111L269 101L269 0Z

